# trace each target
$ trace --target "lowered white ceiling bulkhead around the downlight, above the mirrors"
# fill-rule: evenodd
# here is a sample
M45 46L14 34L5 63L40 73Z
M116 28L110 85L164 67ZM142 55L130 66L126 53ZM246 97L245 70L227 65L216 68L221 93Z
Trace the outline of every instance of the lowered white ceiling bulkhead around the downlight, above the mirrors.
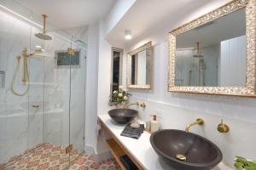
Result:
M143 37L157 32L167 37L167 33L177 26L228 2L230 0L137 0L106 39L130 48ZM127 29L131 30L133 37L129 41L125 40Z

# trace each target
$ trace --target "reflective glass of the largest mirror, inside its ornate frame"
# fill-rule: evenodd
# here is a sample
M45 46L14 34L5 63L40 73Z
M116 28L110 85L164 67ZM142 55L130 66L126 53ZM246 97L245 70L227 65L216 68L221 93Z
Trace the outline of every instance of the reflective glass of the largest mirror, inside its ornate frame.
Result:
M176 38L175 86L246 86L245 8Z

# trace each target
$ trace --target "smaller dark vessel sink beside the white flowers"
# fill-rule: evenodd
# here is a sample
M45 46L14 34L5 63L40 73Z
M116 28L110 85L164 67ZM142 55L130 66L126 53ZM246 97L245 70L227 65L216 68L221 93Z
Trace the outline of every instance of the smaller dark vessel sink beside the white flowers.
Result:
M126 124L131 122L137 116L137 111L133 109L113 109L108 111L108 115L114 122Z

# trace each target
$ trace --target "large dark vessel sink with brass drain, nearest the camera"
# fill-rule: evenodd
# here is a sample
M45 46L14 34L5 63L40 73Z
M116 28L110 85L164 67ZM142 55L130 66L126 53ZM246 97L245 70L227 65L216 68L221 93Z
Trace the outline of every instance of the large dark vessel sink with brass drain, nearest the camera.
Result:
M221 150L211 141L182 130L155 132L150 143L158 156L177 170L209 170L223 158Z

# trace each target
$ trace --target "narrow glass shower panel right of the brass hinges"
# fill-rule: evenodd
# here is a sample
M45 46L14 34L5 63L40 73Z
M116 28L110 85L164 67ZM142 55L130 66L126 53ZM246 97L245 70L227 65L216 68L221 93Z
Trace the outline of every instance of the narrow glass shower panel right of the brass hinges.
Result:
M84 152L85 114L85 43L72 38L70 49L70 161L73 162Z

